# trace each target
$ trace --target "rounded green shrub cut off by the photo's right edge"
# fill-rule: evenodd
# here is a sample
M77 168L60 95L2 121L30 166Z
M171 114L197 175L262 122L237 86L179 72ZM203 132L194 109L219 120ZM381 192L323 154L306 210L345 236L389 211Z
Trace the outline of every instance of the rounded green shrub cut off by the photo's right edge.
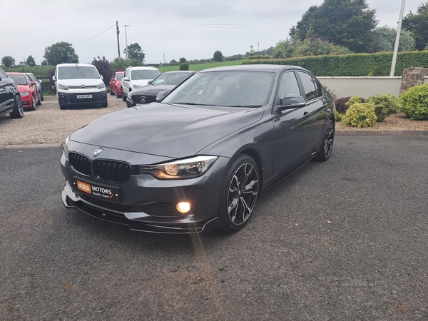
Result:
M402 111L412 121L428 120L428 83L409 88L399 95Z

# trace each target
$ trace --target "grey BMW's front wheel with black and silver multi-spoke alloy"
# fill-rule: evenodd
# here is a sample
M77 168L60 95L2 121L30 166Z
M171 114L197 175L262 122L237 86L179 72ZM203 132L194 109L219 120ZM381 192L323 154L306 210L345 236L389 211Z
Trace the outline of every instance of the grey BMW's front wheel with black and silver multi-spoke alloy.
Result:
M260 188L259 173L253 158L240 154L228 170L218 205L220 228L235 232L253 214Z

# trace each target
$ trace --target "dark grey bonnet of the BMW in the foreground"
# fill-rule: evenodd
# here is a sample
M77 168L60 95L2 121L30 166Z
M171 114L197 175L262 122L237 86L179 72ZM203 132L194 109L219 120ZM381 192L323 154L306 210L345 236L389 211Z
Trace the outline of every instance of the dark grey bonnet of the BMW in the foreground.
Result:
M151 103L96 119L72 141L136 153L183 158L260 120L263 108L199 108Z

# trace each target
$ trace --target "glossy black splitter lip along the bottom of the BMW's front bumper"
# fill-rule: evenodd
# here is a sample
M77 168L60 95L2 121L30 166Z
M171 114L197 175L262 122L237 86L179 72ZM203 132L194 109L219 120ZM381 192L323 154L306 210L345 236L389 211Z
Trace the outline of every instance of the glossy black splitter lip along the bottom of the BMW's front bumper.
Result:
M150 215L139 212L139 213L120 213L113 210L103 210L96 205L86 203L81 198L78 198L71 186L66 181L66 185L61 194L63 204L66 208L76 208L83 213L91 215L94 218L105 220L107 222L126 225L131 230L147 232L147 233L161 233L161 234L190 234L190 233L202 233L214 230L220 227L218 217L208 220L204 223L178 223L174 225L168 225L165 223L145 222L144 217L150 217Z

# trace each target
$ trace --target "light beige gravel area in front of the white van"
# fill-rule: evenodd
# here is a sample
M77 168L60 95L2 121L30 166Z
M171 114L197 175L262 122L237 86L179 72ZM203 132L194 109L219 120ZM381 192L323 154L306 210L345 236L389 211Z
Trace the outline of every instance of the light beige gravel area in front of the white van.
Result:
M26 111L24 117L0 117L0 146L63 143L76 129L94 119L126 108L121 98L108 93L108 107L76 107L59 109L56 96L44 96L36 111Z

